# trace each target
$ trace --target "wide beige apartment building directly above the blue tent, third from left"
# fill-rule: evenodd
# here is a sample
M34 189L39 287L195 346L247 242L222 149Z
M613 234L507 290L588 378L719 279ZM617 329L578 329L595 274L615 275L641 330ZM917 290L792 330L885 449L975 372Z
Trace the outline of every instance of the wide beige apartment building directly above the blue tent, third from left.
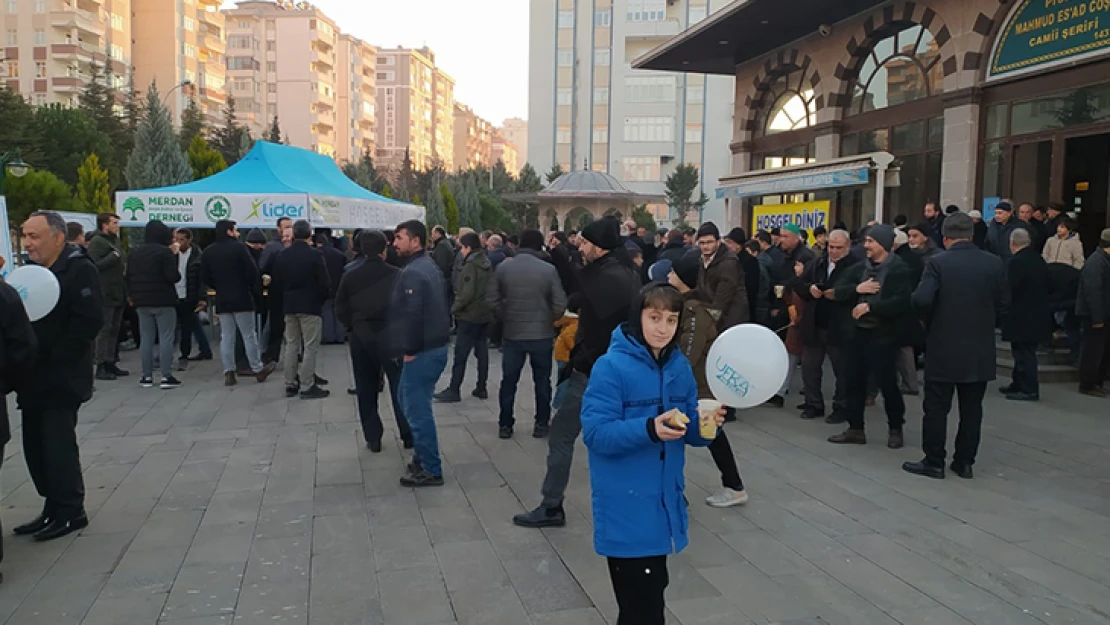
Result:
M255 137L274 117L290 143L339 152L335 22L305 2L239 2L225 10L231 94Z

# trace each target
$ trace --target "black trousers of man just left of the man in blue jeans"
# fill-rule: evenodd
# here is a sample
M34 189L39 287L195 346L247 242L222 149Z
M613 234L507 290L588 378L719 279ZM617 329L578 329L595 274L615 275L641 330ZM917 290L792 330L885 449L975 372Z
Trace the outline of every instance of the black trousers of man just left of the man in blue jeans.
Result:
M397 391L401 389L401 361L383 359L380 345L376 343L364 345L354 334L351 334L347 344L351 349L351 367L354 370L355 395L359 399L359 420L362 422L362 435L366 438L366 443L381 442L385 432L377 410L383 372L390 381L390 401L393 402L393 414L397 419L397 432L402 441L412 441L412 429L408 427L408 420L405 419L405 412L397 401Z

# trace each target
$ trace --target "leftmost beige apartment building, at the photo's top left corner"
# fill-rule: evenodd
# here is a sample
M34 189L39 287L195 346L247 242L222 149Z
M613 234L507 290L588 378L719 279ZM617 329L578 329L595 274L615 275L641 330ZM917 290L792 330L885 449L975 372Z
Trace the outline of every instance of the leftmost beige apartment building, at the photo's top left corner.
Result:
M93 63L127 84L132 0L0 0L0 80L33 104L77 105Z

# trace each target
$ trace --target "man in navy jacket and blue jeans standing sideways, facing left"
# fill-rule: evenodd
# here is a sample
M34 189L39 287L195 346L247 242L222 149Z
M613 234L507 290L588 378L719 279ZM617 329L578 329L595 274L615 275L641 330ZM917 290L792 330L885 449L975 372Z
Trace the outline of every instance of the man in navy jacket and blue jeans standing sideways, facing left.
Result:
M413 431L416 457L402 486L442 486L443 465L435 432L432 395L447 366L451 314L443 271L424 251L427 229L417 220L397 225L393 246L407 260L393 288L392 314L401 369L401 405ZM448 243L450 245L450 243Z

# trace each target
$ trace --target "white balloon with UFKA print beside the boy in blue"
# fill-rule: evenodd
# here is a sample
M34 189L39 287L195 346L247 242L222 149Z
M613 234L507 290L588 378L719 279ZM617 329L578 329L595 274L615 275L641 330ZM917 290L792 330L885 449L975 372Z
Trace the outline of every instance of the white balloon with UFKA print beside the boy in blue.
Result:
M706 357L705 376L717 401L749 409L778 393L788 369L783 340L763 325L745 323L717 336Z

